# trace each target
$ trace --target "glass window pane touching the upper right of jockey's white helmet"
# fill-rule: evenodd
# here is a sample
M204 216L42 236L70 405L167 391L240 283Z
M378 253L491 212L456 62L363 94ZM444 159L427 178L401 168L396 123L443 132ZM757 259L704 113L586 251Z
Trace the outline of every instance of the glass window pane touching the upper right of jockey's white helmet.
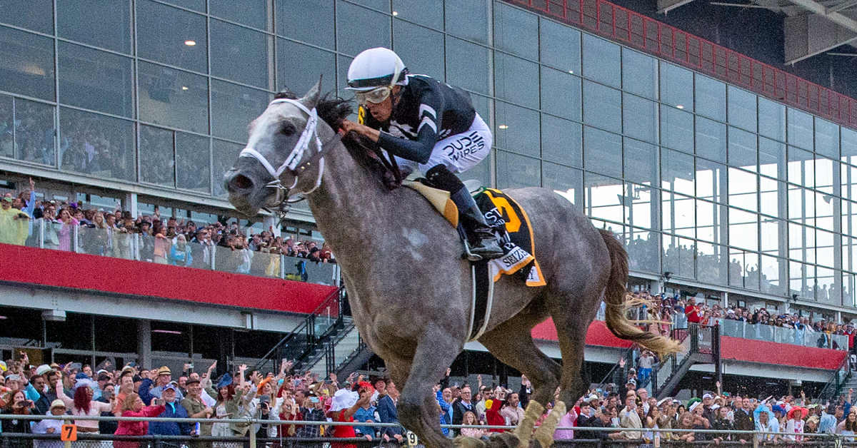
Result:
M443 33L406 21L393 21L393 50L408 61L411 73L443 81Z

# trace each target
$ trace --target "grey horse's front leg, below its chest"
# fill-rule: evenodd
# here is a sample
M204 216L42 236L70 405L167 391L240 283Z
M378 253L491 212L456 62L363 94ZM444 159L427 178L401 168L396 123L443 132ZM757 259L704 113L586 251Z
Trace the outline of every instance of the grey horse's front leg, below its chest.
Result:
M460 341L435 326L428 326L417 342L411 372L399 398L399 420L428 448L452 446L452 440L440 431L440 407L432 386L462 349Z

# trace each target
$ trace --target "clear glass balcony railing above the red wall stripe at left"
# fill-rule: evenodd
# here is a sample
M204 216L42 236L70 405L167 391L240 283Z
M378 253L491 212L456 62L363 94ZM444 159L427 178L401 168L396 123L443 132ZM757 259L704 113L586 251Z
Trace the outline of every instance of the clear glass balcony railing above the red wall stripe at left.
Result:
M173 266L234 272L257 277L283 278L314 284L339 284L339 266L316 263L283 254L231 249L214 244L160 239L139 233L99 229L81 224L63 224L34 219L32 231L22 245L91 254L123 260L150 261Z

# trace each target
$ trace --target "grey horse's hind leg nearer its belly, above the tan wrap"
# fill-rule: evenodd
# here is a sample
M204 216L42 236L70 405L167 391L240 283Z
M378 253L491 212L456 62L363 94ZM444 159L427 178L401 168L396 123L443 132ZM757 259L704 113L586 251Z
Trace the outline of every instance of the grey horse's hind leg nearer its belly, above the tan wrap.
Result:
M533 385L531 400L542 405L554 399L562 367L536 347L530 331L542 319L532 314L518 314L479 338L491 355L515 367Z

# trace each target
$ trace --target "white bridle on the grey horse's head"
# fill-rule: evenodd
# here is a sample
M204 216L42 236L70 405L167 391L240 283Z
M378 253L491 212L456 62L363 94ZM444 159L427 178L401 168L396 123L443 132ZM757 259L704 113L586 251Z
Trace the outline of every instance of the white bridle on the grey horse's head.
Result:
M311 163L309 161L303 165L300 164L301 160L303 160L303 154L309 149L309 145L311 143L315 142L316 151L319 153L321 153L321 148L322 148L321 138L319 138L319 134L317 131L319 116L318 116L318 111L315 110L315 107L310 111L309 109L307 109L307 106L303 105L297 99L285 99L285 98L274 99L268 105L268 107L271 107L272 105L276 105L279 103L290 103L291 105L295 105L295 106L297 106L297 108L299 108L301 111L306 113L308 116L307 125L306 125L306 127L303 128L303 132L301 133L300 138L297 139L297 143L295 143L295 147L292 148L291 152L289 152L289 156L285 158L285 162L283 162L283 164L279 165L279 168L274 169L273 164L271 164L271 162L269 162L267 160L267 158L265 158L265 156L263 156L261 154L261 152L256 151L255 148L253 148L252 146L246 146L244 149L241 150L241 153L238 154L238 157L255 158L256 160L259 161L260 164L262 164L262 166L265 167L265 170L267 170L268 174L273 176L273 181L268 182L265 185L265 187L266 188L277 188L277 196L275 198L275 200L277 202L276 205L279 205L284 200L288 199L291 189L295 188L297 186L298 175L300 175L301 172L303 172L303 170L306 170L307 168L309 168L309 165L311 165ZM301 166L301 170L298 170L298 166ZM295 178L295 182L292 182L291 187L285 187L283 185L283 182L281 182L279 179L279 176L282 176L282 174L285 170L289 170L291 175ZM305 191L305 192L301 192L301 193L302 194L310 194L310 193L314 192L316 188L319 188L319 186L321 185L321 175L323 173L324 173L324 158L320 157L319 158L319 174L318 174L318 177L315 179L315 186L312 189L310 189L309 191Z

